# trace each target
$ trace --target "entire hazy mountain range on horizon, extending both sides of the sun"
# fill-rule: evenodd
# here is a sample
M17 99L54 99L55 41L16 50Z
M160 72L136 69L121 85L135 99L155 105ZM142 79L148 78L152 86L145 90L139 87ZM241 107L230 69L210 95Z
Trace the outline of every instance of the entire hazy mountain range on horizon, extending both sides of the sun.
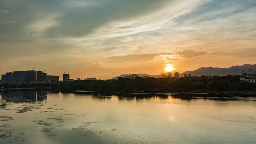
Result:
M186 71L186 72L182 72L179 74L180 77L183 77L184 74L192 74L192 76L202 76L202 75L206 75L206 74L212 74L212 75L219 75L219 76L227 76L228 74L241 74L242 70L248 70L248 69L254 69L256 70L256 64L244 64L242 66L231 66L230 68L213 68L213 67L202 67L202 68L198 68L197 70L193 70L193 71ZM150 74L138 74L140 77L142 76L149 76L149 77L153 77L153 78L162 78L162 75L168 75L168 73L162 73L159 75L150 75ZM124 76L128 76L130 74L122 74L120 76L124 77ZM112 79L117 80L118 77L120 76L116 76ZM174 76L174 73L172 73L172 76Z

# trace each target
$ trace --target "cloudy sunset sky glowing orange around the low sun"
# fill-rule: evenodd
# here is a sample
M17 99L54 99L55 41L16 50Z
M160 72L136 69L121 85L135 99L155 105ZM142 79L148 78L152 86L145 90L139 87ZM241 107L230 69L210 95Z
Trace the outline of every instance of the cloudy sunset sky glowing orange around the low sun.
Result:
M256 64L255 14L256 0L1 0L0 74L106 80Z

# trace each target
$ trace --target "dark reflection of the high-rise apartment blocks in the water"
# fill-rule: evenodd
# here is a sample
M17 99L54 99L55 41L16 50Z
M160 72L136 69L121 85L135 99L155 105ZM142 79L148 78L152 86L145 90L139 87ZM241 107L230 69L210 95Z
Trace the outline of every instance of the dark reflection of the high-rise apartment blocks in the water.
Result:
M6 102L42 102L47 99L47 92L35 90L3 90L2 100Z

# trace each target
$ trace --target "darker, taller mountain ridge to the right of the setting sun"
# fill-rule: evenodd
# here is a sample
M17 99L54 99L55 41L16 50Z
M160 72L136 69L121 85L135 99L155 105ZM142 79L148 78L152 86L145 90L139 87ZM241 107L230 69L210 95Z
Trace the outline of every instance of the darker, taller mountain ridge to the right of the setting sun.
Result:
M213 68L213 67L202 67L193 71L186 71L180 73L179 76L183 77L184 74L192 74L192 76L202 76L206 74L219 75L219 76L227 76L228 74L241 74L242 70L254 69L256 70L256 64L244 64L242 66L231 66L230 68Z

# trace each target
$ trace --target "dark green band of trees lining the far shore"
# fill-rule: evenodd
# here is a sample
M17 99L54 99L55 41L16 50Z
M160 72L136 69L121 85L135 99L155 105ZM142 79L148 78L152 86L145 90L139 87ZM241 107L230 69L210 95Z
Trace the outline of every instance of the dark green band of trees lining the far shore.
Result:
M118 80L76 80L60 84L21 84L11 88L38 88L44 90L91 90L96 92L207 92L207 93L244 93L256 92L256 84L239 82L239 75L201 76L199 78L183 77L152 78L137 77L118 78Z

